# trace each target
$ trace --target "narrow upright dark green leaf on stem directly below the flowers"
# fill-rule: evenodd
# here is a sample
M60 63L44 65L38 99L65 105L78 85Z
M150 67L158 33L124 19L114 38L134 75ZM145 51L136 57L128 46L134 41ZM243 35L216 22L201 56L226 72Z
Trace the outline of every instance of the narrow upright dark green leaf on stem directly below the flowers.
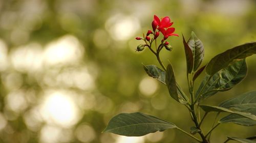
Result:
M167 69L166 69L165 83L167 85L169 95L176 101L180 102L178 97L177 85L176 85L173 67L170 64L167 66Z

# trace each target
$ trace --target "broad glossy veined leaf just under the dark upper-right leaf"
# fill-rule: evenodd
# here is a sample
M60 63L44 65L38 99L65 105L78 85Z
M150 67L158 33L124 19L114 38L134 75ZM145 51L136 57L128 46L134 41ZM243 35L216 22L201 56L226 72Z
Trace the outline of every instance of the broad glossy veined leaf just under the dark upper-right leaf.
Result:
M228 67L212 75L211 78L209 75L205 75L198 88L196 97L201 96L202 99L206 99L216 94L217 92L230 90L234 87L234 85L241 82L246 77L246 75L247 65L245 59L236 61ZM208 80L208 78L210 78L210 80Z

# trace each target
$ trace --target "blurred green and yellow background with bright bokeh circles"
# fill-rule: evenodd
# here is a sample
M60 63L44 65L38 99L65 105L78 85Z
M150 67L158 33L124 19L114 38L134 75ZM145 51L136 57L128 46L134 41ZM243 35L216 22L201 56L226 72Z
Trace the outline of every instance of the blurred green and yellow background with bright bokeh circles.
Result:
M186 39L191 31L197 34L205 46L203 64L256 40L253 0L0 0L0 142L194 141L173 129L142 137L101 133L120 112L144 112L186 131L193 126L186 108L144 72L142 63L159 66L153 54L135 52L142 42L135 37L151 29L154 14L170 16L175 33ZM187 93L182 37L168 42L173 51L163 50L162 61L172 62ZM242 83L204 103L218 105L255 90L255 60L247 58L249 71ZM205 132L214 117L207 117ZM225 135L255 134L255 127L223 124L212 142L223 142Z

